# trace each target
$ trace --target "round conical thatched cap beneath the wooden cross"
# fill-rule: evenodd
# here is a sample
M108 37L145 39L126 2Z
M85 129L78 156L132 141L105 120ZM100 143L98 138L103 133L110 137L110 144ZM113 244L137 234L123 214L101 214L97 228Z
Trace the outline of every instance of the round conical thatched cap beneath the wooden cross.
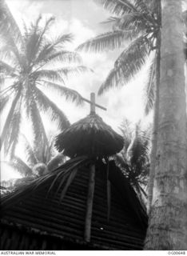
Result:
M122 150L123 138L91 113L59 134L55 146L71 158L84 154L105 157Z

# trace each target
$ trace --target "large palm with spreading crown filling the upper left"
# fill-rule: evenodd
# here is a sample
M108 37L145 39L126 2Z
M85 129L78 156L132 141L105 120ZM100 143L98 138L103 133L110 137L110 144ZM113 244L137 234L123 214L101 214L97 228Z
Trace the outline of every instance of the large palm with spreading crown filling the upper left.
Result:
M82 97L65 86L71 74L86 71L80 56L66 50L66 43L72 42L72 34L60 34L50 38L50 27L54 18L42 17L30 26L19 30L6 3L0 2L0 91L1 108L10 106L2 129L1 147L7 154L14 154L18 142L21 120L24 115L32 123L34 141L47 145L41 111L57 120L62 130L70 125L66 115L44 93L50 89L74 102L82 102ZM74 65L73 65L74 64Z

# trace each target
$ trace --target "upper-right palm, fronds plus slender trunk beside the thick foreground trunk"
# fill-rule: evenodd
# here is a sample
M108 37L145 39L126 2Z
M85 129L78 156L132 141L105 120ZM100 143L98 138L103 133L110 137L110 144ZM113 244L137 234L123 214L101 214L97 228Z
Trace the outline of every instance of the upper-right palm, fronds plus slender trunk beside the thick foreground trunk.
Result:
M78 50L99 52L105 49L124 48L114 63L113 69L102 83L98 94L113 86L124 86L144 66L150 54L153 62L149 67L149 79L145 85L145 114L153 109L152 150L148 184L148 212L152 201L153 175L157 150L157 119L160 76L160 28L161 1L145 0L99 0L114 17L106 22L113 23L113 30L78 46Z

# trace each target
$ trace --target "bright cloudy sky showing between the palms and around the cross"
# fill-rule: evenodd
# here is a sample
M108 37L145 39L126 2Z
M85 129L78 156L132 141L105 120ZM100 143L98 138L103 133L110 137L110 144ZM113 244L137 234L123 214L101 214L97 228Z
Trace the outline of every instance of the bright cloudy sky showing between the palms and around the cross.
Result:
M69 46L74 50L86 39L109 30L106 25L101 25L109 13L99 6L94 0L6 0L10 11L14 15L18 25L22 27L22 20L26 23L33 21L42 14L44 17L54 15L56 23L53 27L53 34L72 33L74 43ZM121 50L105 51L102 54L82 54L83 64L94 70L94 73L82 74L79 77L71 78L66 86L78 90L84 98L90 98L90 93L95 92L105 80L109 70L113 67L113 62ZM143 117L143 87L146 81L148 66L142 70L137 78L129 82L127 86L109 90L100 97L96 97L97 103L107 108L107 111L96 110L97 114L107 122L114 130L118 130L123 118L128 118L131 122L138 122ZM74 103L66 102L64 98L50 95L50 98L60 107L70 122L76 122L84 118L90 112L89 104L75 106ZM46 123L46 130L56 132L51 122ZM26 134L26 128L23 127ZM26 134L27 135L27 134ZM19 149L21 150L21 149ZM2 179L6 177L2 172Z

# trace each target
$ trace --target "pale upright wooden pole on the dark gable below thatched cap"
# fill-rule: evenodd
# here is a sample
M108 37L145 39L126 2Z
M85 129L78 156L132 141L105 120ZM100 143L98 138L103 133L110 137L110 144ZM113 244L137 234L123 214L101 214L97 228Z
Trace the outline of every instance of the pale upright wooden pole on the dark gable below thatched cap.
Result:
M95 166L90 166L90 181L88 187L88 197L86 205L86 222L84 238L86 242L90 242L91 238L91 224L92 224L92 210L94 202L94 188L95 188Z

